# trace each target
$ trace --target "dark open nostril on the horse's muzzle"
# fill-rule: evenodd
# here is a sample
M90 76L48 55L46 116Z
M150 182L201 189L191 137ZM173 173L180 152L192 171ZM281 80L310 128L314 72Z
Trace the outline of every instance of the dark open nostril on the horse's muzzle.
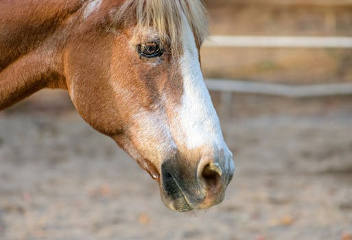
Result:
M216 165L207 164L202 170L202 180L207 191L218 191L221 186L222 171Z

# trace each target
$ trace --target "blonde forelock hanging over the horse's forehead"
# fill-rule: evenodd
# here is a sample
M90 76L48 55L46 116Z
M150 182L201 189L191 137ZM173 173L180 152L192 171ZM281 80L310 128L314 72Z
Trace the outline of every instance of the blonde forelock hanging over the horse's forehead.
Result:
M159 33L162 46L169 46L173 54L179 51L181 18L186 16L198 43L209 34L207 11L201 0L127 0L117 12L117 21L135 13L137 31L152 27Z

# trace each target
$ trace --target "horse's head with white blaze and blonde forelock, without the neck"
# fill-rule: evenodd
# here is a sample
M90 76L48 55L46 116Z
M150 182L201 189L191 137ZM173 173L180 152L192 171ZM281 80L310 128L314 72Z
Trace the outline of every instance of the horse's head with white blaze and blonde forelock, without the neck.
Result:
M207 34L201 3L138 0L110 8L89 3L68 43L65 76L75 107L159 182L169 208L222 202L233 155L200 68Z

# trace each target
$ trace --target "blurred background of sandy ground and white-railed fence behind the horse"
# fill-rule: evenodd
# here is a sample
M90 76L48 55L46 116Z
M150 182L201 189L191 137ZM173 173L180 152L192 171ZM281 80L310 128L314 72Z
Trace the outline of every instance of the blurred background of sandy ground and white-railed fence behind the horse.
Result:
M202 68L236 165L224 202L169 211L46 90L0 112L0 239L352 239L352 41L335 38L352 37L352 1L205 4Z

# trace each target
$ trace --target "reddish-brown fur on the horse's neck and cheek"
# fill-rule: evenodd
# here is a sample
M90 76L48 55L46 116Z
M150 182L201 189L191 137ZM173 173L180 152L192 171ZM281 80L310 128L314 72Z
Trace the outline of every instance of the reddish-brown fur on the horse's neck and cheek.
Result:
M66 88L80 115L93 128L112 136L127 151L130 145L142 150L137 136L130 133L135 127L132 116L139 110L135 106L145 110L168 108L171 112L178 103L165 104L160 97L161 93L182 94L182 82L176 76L178 63L164 54L166 65L140 64L129 44L135 23L116 23L121 1L103 1L99 12L84 21L88 3L1 1L0 23L5 27L0 29L0 110L41 88ZM170 78L173 81L168 81ZM120 95L111 91L111 79L116 80L115 90ZM148 147L152 149L152 145ZM145 167L143 162L148 159L134 158L149 172L157 168L150 163Z

